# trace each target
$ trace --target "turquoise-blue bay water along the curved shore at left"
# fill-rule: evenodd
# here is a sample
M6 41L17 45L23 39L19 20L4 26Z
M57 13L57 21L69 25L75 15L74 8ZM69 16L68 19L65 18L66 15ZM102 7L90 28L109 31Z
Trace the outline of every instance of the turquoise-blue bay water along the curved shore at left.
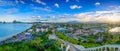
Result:
M0 41L13 35L16 35L26 29L29 29L32 24L23 24L23 23L10 23L3 24L0 23Z

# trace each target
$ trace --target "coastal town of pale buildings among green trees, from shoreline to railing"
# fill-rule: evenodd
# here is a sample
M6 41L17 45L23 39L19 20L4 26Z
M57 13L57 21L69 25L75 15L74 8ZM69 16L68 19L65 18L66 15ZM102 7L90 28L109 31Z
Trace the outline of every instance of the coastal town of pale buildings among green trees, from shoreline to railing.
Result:
M119 27L119 24L106 23L34 23L22 33L1 41L0 46L22 42L23 46L29 44L28 48L35 47L38 51L52 48L54 51L80 51L106 44L119 44Z

